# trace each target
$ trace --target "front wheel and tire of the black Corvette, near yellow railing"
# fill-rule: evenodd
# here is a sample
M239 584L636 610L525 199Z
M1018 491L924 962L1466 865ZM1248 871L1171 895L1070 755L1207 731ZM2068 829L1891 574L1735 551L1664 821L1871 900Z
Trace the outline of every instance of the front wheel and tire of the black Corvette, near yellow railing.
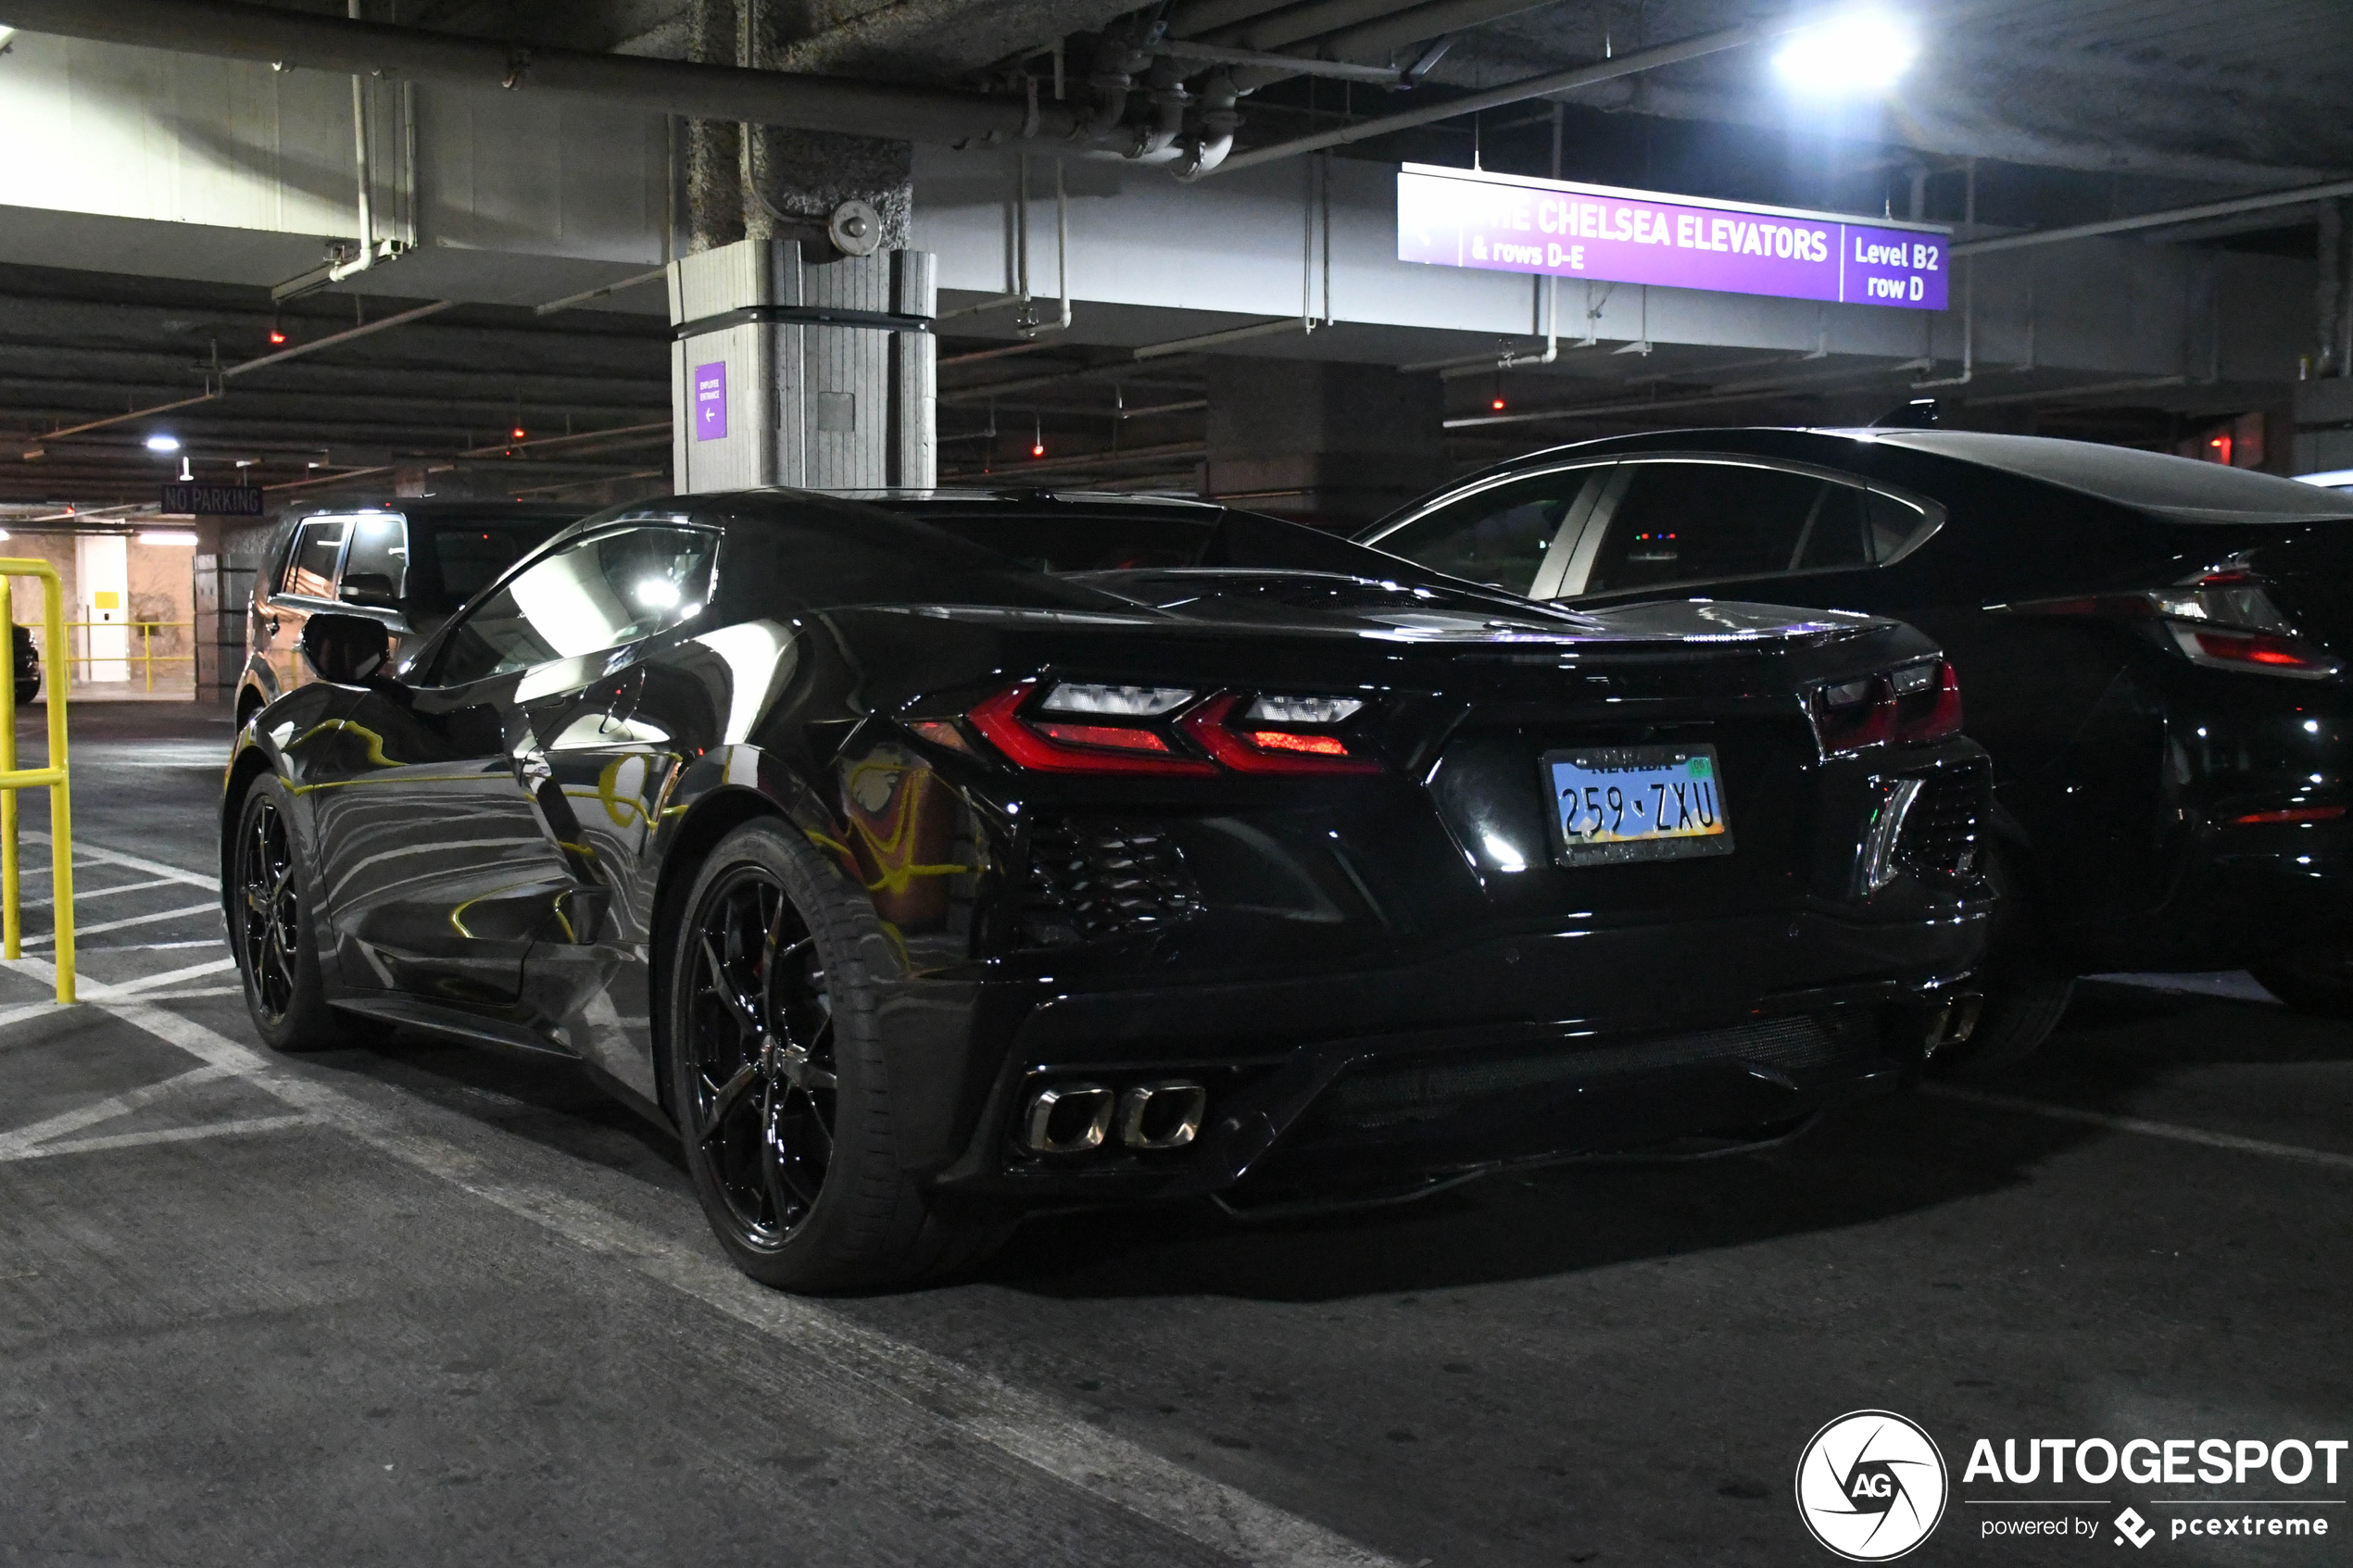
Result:
M261 776L245 792L231 865L228 943L254 1032L273 1051L358 1044L327 1009L311 875L294 835L292 797L278 778Z

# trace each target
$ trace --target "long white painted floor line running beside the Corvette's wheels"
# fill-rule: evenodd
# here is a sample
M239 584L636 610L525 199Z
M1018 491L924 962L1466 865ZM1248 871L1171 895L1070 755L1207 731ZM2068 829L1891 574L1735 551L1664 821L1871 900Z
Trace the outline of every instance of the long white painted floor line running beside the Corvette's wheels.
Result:
M1054 1401L1016 1389L906 1340L866 1328L821 1302L767 1291L673 1237L647 1232L593 1204L499 1168L482 1154L400 1124L308 1077L280 1070L252 1046L160 1006L101 1004L106 1013L188 1051L209 1067L252 1079L296 1112L325 1121L452 1187L529 1220L600 1258L666 1284L758 1328L944 1427L984 1441L1071 1488L1118 1505L1242 1563L1268 1568L1400 1568L1358 1542L1212 1481L1127 1439L1092 1427ZM482 1124L475 1124L482 1126ZM485 1138L515 1143L482 1126Z

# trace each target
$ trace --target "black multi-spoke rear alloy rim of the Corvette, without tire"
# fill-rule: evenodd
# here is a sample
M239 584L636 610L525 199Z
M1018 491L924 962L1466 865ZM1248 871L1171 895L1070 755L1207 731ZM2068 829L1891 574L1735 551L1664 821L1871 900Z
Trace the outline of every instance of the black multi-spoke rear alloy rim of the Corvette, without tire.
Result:
M689 1138L734 1239L772 1253L816 1208L833 1166L833 997L807 922L776 875L732 865L687 933L682 1041Z

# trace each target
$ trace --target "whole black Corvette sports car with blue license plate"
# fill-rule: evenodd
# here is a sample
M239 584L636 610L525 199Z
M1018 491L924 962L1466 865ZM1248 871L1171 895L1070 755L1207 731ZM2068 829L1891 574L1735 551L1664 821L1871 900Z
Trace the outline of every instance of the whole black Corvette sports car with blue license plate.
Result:
M1558 611L1202 505L751 491L567 529L398 672L355 616L306 651L221 809L261 1037L576 1058L774 1286L1040 1204L1737 1147L1967 1027L1986 764L1892 621ZM1826 717L1854 682L1885 733Z

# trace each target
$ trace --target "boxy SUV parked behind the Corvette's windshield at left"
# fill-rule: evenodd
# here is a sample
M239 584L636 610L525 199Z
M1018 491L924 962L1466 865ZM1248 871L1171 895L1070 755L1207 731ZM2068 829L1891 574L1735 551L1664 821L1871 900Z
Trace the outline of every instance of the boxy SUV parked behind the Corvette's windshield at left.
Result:
M254 574L238 724L311 679L296 651L313 611L381 621L398 649L579 515L576 505L407 501L296 517Z

